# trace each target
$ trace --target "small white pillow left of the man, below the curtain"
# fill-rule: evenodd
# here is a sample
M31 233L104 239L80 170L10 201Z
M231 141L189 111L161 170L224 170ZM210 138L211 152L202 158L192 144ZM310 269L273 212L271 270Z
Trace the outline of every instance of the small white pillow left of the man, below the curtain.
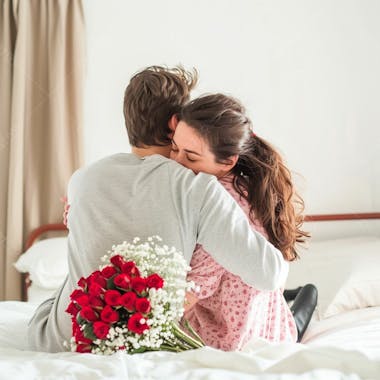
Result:
M43 289L57 289L67 273L67 237L40 240L14 263L19 272L29 272L33 284Z

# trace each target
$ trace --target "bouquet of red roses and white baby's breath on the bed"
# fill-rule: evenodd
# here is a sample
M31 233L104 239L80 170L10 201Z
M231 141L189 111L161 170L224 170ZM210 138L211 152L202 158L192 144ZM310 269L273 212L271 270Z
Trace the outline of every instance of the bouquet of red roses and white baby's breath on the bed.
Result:
M183 255L159 245L158 236L139 241L113 246L102 258L105 264L78 281L66 310L72 351L178 352L204 346L191 326L185 332L178 325L186 291L193 287Z

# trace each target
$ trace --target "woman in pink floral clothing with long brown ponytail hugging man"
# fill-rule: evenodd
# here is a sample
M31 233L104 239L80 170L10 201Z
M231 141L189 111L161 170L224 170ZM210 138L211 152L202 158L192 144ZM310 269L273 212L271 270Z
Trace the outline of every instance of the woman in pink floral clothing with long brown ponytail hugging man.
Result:
M280 155L252 132L238 101L215 94L188 103L179 115L171 158L196 173L217 176L252 228L286 260L298 257L295 245L308 236L300 229L303 218L296 210L303 209L303 202ZM190 265L189 280L200 287L199 300L184 318L207 345L228 351L240 349L253 337L297 340L295 320L280 289L263 292L246 285L201 246Z

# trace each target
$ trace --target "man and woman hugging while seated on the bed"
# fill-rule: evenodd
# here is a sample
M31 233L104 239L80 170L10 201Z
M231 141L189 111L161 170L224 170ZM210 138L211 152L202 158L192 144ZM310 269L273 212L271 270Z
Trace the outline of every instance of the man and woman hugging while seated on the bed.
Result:
M283 296L288 261L307 234L289 170L252 131L243 106L213 94L189 102L196 73L149 67L124 97L132 153L73 174L68 186L69 274L29 324L29 348L66 350L65 309L78 279L115 242L159 235L182 251L199 287L185 318L207 345L240 349L254 337L296 341Z

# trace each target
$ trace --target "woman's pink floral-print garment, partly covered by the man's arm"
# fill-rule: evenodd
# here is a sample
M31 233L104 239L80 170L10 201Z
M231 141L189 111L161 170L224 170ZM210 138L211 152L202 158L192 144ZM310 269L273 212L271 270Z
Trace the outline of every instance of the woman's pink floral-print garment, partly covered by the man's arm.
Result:
M233 188L232 180L232 176L227 176L220 182L249 217L249 204ZM267 237L257 220L250 219L250 224ZM188 280L200 288L199 301L184 318L208 346L239 350L255 337L271 342L296 342L295 321L282 289L261 291L246 285L220 266L201 245L197 245L190 266Z

